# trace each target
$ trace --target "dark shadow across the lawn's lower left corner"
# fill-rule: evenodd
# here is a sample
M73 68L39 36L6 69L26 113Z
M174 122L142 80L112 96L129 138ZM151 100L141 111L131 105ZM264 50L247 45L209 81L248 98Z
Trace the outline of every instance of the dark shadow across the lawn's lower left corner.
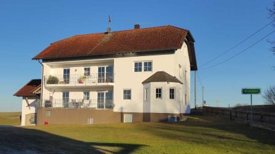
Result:
M141 146L82 142L36 129L0 127L0 153L133 153Z

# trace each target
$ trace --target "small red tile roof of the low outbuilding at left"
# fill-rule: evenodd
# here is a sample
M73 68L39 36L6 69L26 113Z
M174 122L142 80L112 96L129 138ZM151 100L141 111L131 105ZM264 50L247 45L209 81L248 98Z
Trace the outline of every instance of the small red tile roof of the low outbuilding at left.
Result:
M41 88L41 79L32 79L28 82L23 88L18 90L17 93L14 94L16 97L35 97L36 94L33 92L37 89Z

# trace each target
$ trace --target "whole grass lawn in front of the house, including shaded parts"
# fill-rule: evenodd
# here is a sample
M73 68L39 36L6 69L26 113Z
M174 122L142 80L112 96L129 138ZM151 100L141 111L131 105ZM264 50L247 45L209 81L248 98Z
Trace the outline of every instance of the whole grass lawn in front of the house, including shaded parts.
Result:
M0 128L0 153L275 153L275 131L215 116L179 123Z

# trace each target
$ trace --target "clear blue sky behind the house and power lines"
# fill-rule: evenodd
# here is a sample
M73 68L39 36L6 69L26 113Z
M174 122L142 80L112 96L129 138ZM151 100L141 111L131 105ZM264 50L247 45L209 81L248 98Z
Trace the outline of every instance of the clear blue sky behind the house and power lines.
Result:
M201 66L269 23L267 8L271 6L272 1L261 0L0 1L0 112L20 111L21 98L12 95L30 79L41 78L41 66L32 60L34 55L51 42L105 31L109 14L112 31L133 29L135 23L141 27L175 25L189 29ZM208 66L226 60L273 29L266 27ZM250 96L242 95L241 88L265 90L275 85L275 55L270 47L265 39L229 62L204 70L199 67L206 102L212 106L250 103ZM200 103L199 81L197 89ZM263 104L261 95L253 99L255 104Z

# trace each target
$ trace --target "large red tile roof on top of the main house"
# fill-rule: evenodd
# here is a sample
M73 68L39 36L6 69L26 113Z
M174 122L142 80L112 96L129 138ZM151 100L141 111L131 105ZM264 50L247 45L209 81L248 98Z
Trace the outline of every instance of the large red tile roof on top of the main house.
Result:
M83 34L50 44L34 60L180 49L190 31L173 26Z

